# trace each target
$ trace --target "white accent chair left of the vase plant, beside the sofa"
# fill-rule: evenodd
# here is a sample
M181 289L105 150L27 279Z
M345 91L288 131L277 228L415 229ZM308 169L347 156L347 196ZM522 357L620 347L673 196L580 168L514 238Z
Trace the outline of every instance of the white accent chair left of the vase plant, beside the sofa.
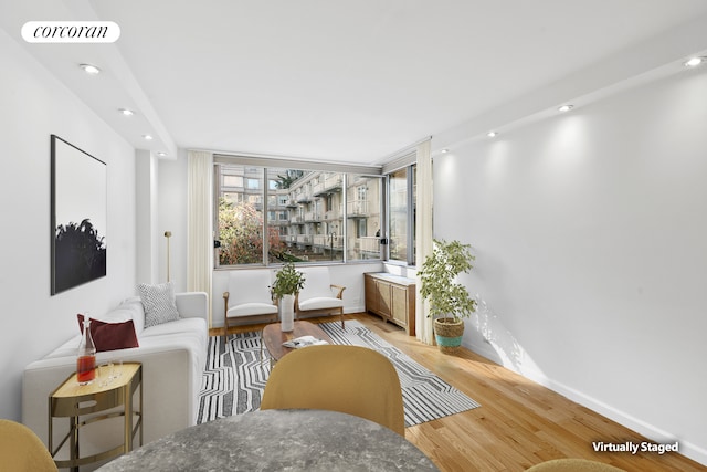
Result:
M272 274L267 269L232 271L229 274L229 291L223 293L223 338L228 338L230 322L250 316L274 316L277 305L270 287Z

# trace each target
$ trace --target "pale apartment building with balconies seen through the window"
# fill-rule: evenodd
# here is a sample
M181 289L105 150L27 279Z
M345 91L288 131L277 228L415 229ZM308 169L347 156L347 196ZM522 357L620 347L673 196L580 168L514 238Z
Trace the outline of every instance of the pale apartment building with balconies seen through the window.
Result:
M342 261L345 251L347 261L381 258L381 177L229 165L219 166L218 179L219 199L255 210L295 261ZM404 195L391 199L395 214L405 211ZM394 233L405 233L398 228L407 216L391 221Z

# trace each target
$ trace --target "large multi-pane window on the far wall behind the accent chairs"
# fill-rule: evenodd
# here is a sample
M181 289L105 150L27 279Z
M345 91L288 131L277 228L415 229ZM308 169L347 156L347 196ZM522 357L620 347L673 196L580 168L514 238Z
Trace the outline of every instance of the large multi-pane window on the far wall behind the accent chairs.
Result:
M235 164L215 175L217 265L380 259L382 177Z

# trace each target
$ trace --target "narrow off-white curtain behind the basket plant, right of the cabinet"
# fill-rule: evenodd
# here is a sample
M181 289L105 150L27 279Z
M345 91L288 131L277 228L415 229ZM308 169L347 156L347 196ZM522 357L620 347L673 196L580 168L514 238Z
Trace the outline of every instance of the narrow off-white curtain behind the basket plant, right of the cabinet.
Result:
M418 197L415 217L415 264L422 266L424 259L432 252L432 156L430 139L418 145ZM420 296L420 279L416 281L415 325L416 337L425 344L433 344L434 333L429 303Z

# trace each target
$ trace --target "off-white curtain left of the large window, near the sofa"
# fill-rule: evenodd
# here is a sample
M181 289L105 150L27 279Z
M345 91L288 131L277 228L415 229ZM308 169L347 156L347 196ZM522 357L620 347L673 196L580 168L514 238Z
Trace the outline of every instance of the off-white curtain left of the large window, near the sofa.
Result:
M188 159L187 290L207 292L211 326L213 156L211 153L190 150Z

